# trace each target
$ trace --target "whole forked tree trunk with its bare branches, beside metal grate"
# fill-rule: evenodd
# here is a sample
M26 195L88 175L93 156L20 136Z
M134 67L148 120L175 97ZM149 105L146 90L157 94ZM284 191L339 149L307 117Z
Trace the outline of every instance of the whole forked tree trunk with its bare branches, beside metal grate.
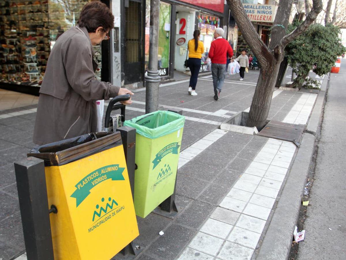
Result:
M302 34L315 21L322 9L321 0L312 1L312 9L306 20L290 34L286 34L286 28L289 23L293 0L281 0L279 2L271 30L271 42L269 47L267 47L255 31L240 0L227 0L239 30L262 66L252 99L247 126L256 126L259 129L264 127L270 109L277 74L284 57L284 49L289 42Z

